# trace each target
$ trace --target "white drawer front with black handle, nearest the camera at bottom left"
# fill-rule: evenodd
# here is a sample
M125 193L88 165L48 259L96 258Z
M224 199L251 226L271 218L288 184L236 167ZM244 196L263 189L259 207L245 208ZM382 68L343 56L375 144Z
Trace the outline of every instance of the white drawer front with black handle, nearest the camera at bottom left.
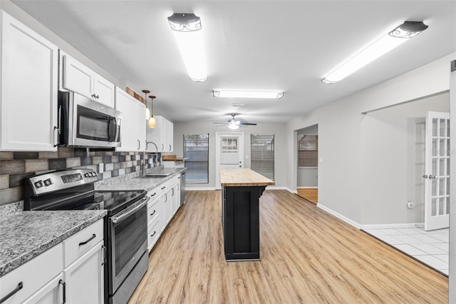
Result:
M22 282L22 289L4 302L22 303L62 271L63 245L60 243L1 277L0 298L16 289L19 282Z

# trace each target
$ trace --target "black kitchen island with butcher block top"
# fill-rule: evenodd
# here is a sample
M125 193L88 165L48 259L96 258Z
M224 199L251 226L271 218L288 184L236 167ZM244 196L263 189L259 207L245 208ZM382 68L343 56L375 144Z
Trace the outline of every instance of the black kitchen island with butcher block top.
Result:
M260 260L259 198L274 181L250 169L220 170L222 228L227 261Z

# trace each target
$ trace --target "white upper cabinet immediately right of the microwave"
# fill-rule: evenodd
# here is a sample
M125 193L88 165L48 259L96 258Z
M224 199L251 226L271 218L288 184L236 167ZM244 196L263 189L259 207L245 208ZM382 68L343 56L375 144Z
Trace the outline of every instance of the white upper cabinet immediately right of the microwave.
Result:
M115 108L122 112L120 147L115 148L115 150L145 151L145 105L116 87Z

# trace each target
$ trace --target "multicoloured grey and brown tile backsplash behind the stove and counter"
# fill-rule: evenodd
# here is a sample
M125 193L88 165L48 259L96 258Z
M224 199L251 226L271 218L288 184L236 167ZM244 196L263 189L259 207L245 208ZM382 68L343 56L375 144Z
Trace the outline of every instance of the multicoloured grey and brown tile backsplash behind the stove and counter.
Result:
M0 206L24 199L24 178L66 168L90 168L98 180L160 166L160 153L93 151L59 147L56 152L0 152ZM103 173L100 168L103 167Z

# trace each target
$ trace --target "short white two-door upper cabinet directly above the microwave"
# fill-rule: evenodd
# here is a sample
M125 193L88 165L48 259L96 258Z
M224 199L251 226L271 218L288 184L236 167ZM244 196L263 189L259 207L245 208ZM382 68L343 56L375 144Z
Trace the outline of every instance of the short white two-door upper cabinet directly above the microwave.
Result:
M96 74L81 62L68 54L61 56L63 61L62 88L80 93L87 98L114 108L115 86L110 81Z

